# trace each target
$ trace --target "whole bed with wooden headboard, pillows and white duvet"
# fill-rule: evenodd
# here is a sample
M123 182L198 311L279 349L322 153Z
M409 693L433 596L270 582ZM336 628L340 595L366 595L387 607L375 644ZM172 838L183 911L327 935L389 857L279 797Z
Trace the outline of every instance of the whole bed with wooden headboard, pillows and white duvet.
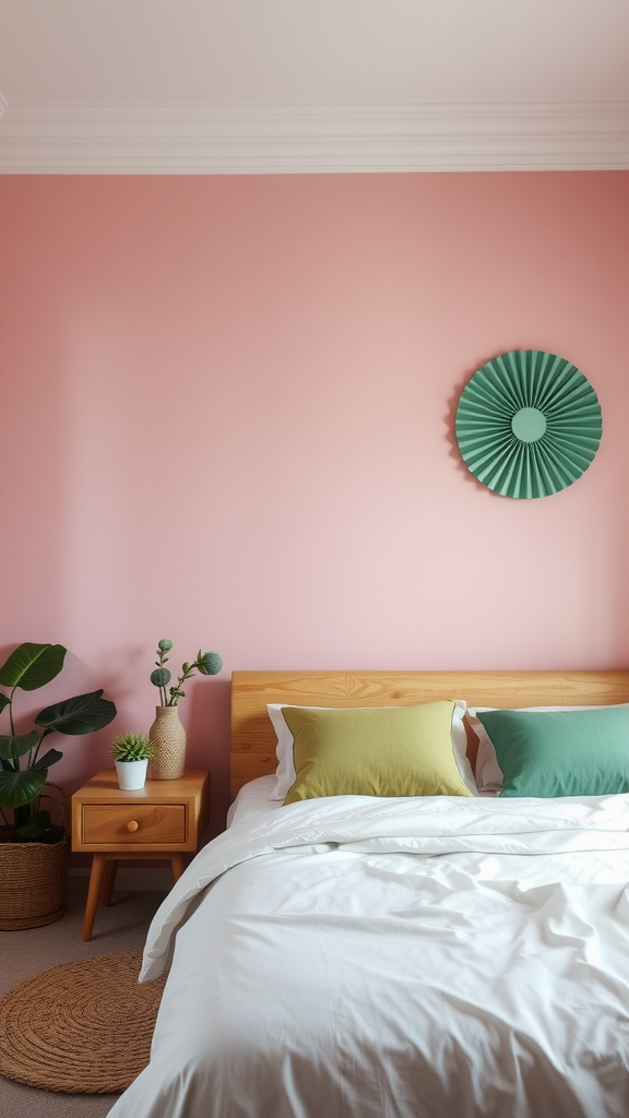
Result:
M111 1118L626 1118L628 704L627 672L235 672L229 825L151 925Z

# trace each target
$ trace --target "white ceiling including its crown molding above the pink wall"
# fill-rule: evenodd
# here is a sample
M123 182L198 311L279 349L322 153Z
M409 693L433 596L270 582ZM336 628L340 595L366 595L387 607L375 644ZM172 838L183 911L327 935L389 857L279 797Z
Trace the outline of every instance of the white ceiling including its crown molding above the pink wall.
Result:
M629 0L0 0L0 171L629 168Z

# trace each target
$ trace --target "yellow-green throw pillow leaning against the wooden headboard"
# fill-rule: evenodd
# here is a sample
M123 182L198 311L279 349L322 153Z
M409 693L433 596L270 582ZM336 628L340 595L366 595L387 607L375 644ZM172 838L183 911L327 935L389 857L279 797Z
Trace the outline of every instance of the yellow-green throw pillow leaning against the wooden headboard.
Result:
M284 707L297 779L284 799L470 796L452 748L453 702L365 710Z

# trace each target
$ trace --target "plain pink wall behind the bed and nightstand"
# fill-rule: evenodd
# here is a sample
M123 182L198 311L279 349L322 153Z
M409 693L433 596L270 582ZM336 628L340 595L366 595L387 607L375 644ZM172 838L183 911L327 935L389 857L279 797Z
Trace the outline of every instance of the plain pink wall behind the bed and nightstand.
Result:
M626 666L628 187L2 177L0 655L65 644L58 697L104 685L113 729L144 730L158 638L175 665L220 652L180 708L215 830L234 669ZM519 348L603 411L541 501L453 444L470 375ZM110 737L65 739L54 778Z

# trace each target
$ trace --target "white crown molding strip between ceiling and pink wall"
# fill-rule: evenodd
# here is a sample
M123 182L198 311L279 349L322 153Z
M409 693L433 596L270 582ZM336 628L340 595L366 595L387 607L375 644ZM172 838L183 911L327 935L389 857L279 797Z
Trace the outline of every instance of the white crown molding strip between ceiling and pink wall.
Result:
M629 169L629 103L19 106L3 174L289 174Z

